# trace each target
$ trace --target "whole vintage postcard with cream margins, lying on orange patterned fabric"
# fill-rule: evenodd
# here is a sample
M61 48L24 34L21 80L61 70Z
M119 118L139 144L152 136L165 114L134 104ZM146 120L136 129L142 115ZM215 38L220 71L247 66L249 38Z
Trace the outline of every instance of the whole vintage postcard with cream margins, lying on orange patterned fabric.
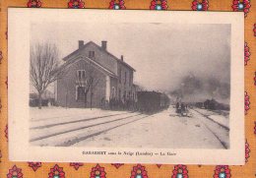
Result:
M11 160L244 164L242 13L8 13Z

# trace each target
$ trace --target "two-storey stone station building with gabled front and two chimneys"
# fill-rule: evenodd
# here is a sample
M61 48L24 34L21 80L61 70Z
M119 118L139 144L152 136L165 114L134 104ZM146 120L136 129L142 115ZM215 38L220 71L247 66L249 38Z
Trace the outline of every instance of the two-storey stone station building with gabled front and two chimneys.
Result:
M63 107L100 107L111 99L136 99L135 69L107 50L107 41L78 41L78 49L63 58L64 75L56 83L56 101Z

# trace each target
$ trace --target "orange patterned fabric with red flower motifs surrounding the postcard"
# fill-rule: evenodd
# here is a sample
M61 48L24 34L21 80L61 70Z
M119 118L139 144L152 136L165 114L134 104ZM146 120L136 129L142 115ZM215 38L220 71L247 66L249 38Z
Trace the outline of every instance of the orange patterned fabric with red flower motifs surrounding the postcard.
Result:
M105 178L107 177L131 177L131 178L148 178L155 177L159 174L161 178L164 177L202 177L199 168L203 169L204 166L187 166L187 165L174 165L173 169L169 165L156 164L154 167L151 165L131 165L122 163L104 164L99 166L90 166L85 163L69 163L54 164L41 163L41 162L9 162L7 153L7 142L8 142L8 125L7 125L7 25L6 25L6 12L8 6L28 7L28 8L102 8L104 9L151 9L151 10L194 10L194 11L235 11L244 12L245 17L245 44L244 44L244 65L246 79L246 91L244 93L244 110L245 110L245 124L246 129L251 130L246 132L245 141L245 159L246 164L242 166L242 169L246 171L240 171L240 166L227 166L227 165L216 165L208 166L204 170L204 177L214 178L228 178L228 177L255 177L256 170L251 167L256 166L255 158L255 136L256 136L256 118L252 117L255 115L255 89L256 89L256 2L250 0L224 0L222 3L213 0L185 0L185 1L174 1L174 0L109 0L107 3L101 0L3 0L0 2L0 19L1 19L1 41L0 41L0 177L7 178L23 178L23 177L52 177L52 178L65 178L65 177L90 177L91 178ZM2 23L3 22L3 23ZM5 36L5 37L2 37ZM4 69L4 70L2 70ZM252 75L252 76L250 76ZM253 79L253 82L251 82ZM254 108L254 109L250 109ZM3 143L3 144L2 144ZM249 144L250 143L250 144ZM251 152L254 151L254 154ZM251 155L250 155L251 154ZM254 157L251 157L254 156ZM90 168L92 167L92 169ZM65 171L64 171L65 169ZM90 169L90 170L89 170ZM233 171L231 171L231 169ZM41 170L49 170L48 174ZM132 170L132 171L131 171ZM188 171L189 170L189 171ZM131 174L129 172L131 171ZM214 171L214 173L213 173ZM91 172L91 173L90 173ZM232 173L231 173L232 172ZM77 174L76 174L77 173ZM46 175L45 175L46 174ZM69 176L68 176L69 174ZM189 175L191 174L191 175ZM72 175L72 176L71 176Z

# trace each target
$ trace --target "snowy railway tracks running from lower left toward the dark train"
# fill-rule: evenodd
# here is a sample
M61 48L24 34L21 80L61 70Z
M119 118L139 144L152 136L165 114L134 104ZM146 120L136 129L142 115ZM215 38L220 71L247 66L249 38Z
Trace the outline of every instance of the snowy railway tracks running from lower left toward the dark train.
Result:
M80 119L74 122L56 123L50 127L31 128L30 142L35 146L70 147L81 141L100 135L115 128L149 117L141 113L127 113L108 117ZM79 124L79 125L78 125Z

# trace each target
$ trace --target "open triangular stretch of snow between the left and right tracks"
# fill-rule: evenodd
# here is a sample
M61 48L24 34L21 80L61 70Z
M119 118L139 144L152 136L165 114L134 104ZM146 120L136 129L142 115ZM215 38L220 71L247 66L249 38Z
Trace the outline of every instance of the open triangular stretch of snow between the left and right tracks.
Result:
M198 113L192 117L180 117L169 108L148 118L131 123L126 127L111 130L103 135L92 137L75 146L94 147L136 147L136 148L224 148L212 131L209 123ZM204 122L208 122L207 120ZM220 131L215 131L220 132ZM226 133L220 133L225 135ZM228 142L228 137L223 136Z

